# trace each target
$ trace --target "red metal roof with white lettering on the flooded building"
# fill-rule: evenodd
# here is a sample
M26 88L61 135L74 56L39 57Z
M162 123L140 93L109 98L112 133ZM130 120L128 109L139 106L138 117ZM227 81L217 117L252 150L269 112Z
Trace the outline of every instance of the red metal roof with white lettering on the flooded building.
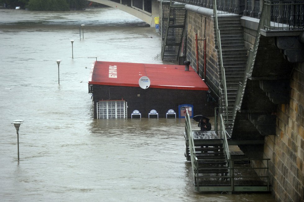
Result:
M209 90L190 67L126 62L96 61L91 68L89 84L139 87L140 77L150 79L149 88Z

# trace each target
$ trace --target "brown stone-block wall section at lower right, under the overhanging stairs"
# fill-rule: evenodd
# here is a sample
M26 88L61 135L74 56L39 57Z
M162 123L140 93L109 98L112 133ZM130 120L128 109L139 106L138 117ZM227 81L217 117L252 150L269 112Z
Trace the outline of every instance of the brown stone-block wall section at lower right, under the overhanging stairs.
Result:
M278 201L304 201L304 63L290 79L289 104L279 105L275 136L265 137L265 157L271 158L273 194Z

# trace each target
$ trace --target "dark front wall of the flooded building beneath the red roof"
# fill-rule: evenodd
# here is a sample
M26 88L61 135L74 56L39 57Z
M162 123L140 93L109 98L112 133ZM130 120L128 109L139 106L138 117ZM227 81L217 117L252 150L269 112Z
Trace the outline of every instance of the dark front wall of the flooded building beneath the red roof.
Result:
M178 117L178 105L193 105L193 113L214 116L215 102L207 102L206 91L176 90L123 86L93 85L94 118L97 117L96 102L99 100L125 100L128 105L128 118L134 110L139 110L141 117L148 117L150 110L156 110L159 118L166 117L169 109L173 109Z

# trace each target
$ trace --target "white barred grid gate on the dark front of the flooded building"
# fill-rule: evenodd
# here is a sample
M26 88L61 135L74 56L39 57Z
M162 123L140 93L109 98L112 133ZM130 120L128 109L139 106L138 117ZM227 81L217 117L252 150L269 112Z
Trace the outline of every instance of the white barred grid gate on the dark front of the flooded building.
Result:
M127 119L127 102L99 101L97 102L97 119Z

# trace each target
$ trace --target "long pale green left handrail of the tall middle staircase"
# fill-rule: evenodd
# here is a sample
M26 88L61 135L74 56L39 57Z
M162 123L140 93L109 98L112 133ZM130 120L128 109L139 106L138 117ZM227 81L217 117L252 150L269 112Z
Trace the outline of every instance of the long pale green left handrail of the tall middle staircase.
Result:
M219 24L218 24L218 16L217 16L217 10L216 10L216 0L213 0L213 15L215 18L215 26L216 26L216 37L217 37L217 44L219 47L219 58L220 58L220 65L221 65L221 72L222 72L222 84L224 87L224 96L225 96L225 108L226 113L228 111L228 98L227 98L227 87L226 87L226 76L225 76L225 69L223 66L223 55L222 55L222 45L221 45L221 34L219 31ZM228 114L227 114L227 122L228 122Z

